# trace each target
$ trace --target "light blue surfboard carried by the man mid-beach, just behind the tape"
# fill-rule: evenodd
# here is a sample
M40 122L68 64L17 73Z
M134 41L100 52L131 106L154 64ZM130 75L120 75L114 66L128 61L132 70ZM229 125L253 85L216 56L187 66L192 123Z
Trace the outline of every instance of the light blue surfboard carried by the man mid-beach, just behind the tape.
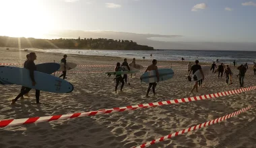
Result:
M158 73L159 81L165 81L167 79L171 79L174 76L174 71L172 69L158 69ZM148 71L146 73L143 73L140 79L141 81L146 83L154 83L158 81L156 77L156 71Z

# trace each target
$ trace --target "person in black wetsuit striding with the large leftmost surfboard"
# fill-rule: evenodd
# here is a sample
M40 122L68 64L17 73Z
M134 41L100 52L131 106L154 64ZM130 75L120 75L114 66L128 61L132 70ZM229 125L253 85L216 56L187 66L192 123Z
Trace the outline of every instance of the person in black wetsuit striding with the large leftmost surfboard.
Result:
M30 60L28 61L26 67L30 71L30 79L32 80L32 86L36 85L36 81L34 79L34 71L36 71L36 65L34 64L34 61L36 60L36 53L35 52L30 52ZM15 102L24 94L27 94L31 90L30 87L25 87L25 89L20 92L20 94L13 100L11 100L11 104L15 104ZM40 97L40 90L36 89L36 104L40 104L39 102L39 97Z

